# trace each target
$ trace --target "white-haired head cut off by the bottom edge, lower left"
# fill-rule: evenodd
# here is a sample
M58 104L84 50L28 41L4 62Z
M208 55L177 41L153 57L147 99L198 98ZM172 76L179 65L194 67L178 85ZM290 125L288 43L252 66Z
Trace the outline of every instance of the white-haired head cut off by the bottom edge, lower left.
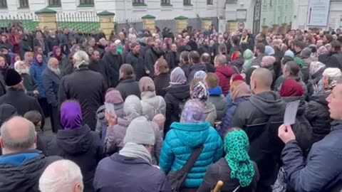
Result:
M81 169L70 160L53 162L39 178L41 192L82 192L83 188Z

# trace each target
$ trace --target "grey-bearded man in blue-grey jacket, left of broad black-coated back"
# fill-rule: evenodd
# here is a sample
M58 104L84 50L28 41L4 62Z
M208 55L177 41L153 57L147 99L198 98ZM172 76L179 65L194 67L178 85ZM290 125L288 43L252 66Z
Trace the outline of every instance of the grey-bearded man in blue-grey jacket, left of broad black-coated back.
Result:
M50 58L48 60L48 68L43 71L43 86L45 90L46 99L51 109L51 125L52 131L57 132L59 129L59 115L58 115L58 90L61 85L61 70L58 68L58 60Z

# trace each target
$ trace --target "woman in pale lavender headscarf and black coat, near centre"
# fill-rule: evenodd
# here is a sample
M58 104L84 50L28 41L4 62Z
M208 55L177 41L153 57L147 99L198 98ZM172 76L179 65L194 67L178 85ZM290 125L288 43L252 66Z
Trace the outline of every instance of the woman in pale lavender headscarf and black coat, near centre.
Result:
M180 121L182 107L190 98L190 86L187 85L187 78L180 67L172 70L170 75L170 86L165 88L165 90L166 122L164 134L170 129L172 122Z

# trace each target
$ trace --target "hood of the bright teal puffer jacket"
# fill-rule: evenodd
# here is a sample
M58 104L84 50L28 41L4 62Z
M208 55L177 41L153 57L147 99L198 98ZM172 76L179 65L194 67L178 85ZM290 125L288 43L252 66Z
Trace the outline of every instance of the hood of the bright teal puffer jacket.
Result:
M190 146L191 148L204 144L209 135L209 127L209 122L201 124L173 122L171 124L171 129L175 129L174 132L177 138L185 146Z

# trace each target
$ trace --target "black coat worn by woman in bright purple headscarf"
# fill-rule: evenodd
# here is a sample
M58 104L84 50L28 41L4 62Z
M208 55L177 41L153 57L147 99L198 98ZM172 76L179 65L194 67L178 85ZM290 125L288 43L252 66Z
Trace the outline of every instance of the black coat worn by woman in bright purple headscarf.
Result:
M61 156L75 162L81 168L84 191L92 192L93 179L98 162L103 158L103 147L98 133L88 125L72 130L58 130L51 143L50 155Z

